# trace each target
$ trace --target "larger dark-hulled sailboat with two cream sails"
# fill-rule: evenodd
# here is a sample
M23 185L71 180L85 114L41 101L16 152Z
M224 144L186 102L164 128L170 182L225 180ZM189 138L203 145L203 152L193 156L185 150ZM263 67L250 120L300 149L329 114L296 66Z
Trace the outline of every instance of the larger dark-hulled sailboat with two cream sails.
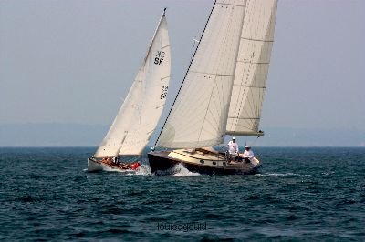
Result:
M168 150L148 154L153 174L178 164L200 174L257 172L257 158L239 162L212 146L224 145L226 135L264 135L259 122L276 6L276 0L215 1L155 143Z

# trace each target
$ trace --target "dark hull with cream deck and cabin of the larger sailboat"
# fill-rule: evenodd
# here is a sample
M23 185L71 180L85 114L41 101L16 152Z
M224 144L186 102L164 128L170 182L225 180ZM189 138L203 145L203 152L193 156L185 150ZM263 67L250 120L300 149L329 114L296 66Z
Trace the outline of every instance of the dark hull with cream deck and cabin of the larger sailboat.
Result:
M148 154L151 173L165 175L178 164L191 172L204 175L249 175L255 174L260 167L259 161L253 163L226 162L225 156L216 154L184 154L187 151L156 151Z

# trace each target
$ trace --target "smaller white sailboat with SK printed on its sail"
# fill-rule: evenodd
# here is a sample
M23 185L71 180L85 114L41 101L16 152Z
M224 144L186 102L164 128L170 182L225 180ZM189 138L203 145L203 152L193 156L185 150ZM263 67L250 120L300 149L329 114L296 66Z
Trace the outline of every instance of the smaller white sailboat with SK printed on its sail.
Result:
M88 171L119 171L140 165L139 161L131 164L127 160L141 159L162 115L171 76L165 10L118 115L94 156L88 159Z

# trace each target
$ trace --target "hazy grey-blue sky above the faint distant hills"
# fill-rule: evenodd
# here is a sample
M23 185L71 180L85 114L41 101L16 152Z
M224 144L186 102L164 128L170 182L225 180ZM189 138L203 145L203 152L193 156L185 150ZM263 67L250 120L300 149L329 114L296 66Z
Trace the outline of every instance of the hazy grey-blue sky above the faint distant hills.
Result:
M164 7L170 106L213 3L0 0L0 124L109 125ZM263 130L365 129L364 10L360 0L279 0Z

